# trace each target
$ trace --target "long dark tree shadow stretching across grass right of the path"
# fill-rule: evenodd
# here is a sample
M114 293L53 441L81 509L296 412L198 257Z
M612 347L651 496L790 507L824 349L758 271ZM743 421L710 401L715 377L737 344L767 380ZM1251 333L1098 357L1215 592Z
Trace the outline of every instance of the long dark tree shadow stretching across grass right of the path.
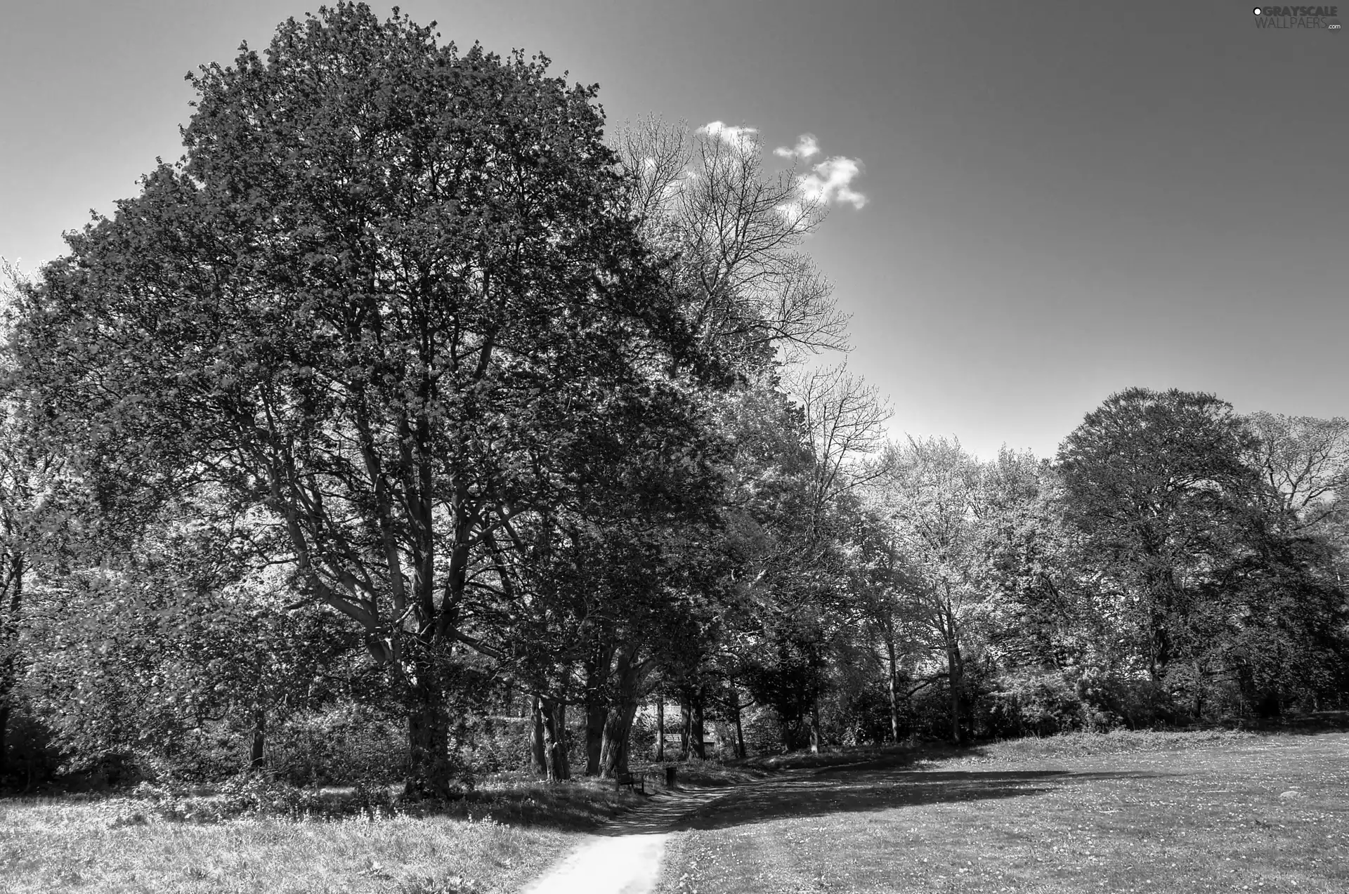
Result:
M893 758L828 767L733 792L677 821L676 829L724 829L781 818L890 810L925 804L1020 798L1090 779L1155 778L1148 773L902 771Z

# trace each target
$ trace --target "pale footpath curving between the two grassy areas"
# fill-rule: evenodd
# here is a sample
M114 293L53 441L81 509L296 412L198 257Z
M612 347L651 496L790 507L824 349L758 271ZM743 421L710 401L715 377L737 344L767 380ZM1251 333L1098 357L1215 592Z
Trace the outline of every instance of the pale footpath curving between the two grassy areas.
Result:
M670 827L680 817L733 789L700 789L653 796L615 820L525 887L525 894L648 894L660 878Z

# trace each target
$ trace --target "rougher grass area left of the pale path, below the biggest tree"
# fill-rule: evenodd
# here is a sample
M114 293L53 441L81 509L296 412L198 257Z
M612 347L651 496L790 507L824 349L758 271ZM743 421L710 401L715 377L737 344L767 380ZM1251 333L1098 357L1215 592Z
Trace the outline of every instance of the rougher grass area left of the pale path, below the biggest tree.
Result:
M198 824L131 798L0 800L0 891L505 894L637 801L499 779L449 814Z

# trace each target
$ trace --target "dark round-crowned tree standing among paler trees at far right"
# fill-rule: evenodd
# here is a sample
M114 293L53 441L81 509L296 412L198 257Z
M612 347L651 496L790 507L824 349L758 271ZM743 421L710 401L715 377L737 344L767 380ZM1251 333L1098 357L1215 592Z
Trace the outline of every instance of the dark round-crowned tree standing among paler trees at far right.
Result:
M1174 388L1112 395L1059 448L1068 519L1155 681L1172 662L1205 672L1206 593L1263 526L1253 448L1229 403Z

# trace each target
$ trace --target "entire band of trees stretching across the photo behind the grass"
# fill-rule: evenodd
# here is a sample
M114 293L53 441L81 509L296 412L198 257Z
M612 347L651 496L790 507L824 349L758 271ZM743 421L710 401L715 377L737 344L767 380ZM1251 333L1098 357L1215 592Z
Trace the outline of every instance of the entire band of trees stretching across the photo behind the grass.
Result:
M260 769L340 713L445 796L523 713L506 751L612 775L657 693L699 756L747 720L817 748L1342 705L1349 423L1132 388L1052 461L888 440L815 360L847 342L823 200L753 132L606 133L548 66L287 20L11 278L0 774L38 739Z

